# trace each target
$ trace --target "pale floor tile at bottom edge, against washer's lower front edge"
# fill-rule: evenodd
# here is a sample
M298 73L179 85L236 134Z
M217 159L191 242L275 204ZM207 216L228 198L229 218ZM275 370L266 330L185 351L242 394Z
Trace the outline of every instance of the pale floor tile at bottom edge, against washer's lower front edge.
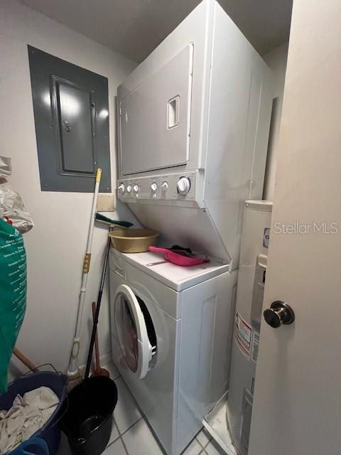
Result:
M126 432L122 439L129 455L163 455L144 419Z

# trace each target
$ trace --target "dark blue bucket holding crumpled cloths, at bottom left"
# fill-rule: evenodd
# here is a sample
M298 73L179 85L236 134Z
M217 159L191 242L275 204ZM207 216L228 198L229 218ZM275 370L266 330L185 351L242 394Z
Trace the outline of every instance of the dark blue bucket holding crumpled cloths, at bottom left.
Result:
M38 429L38 432L32 435L32 438L38 437L44 439L48 446L49 455L55 455L60 445L60 419L63 414L63 402L67 392L67 378L65 375L52 371L42 371L14 380L9 385L7 392L0 396L0 410L11 409L16 395L19 394L23 396L26 392L38 389L38 387L42 386L50 387L50 389L55 392L55 395L58 396L60 402L50 419L45 422L43 427ZM23 444L16 447L16 450L21 449ZM14 452L16 453L16 451ZM13 454L13 452L10 453ZM38 454L39 453L40 452L38 452Z

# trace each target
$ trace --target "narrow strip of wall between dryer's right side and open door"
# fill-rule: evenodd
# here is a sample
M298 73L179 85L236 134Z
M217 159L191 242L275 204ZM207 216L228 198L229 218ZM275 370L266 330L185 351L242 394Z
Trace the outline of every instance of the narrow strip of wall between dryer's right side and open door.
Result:
M284 80L286 77L286 60L288 58L288 43L263 55L264 60L274 73L274 109L271 118L268 157L266 159L266 175L264 181L264 199L273 200L276 179L278 154L279 126L281 124Z

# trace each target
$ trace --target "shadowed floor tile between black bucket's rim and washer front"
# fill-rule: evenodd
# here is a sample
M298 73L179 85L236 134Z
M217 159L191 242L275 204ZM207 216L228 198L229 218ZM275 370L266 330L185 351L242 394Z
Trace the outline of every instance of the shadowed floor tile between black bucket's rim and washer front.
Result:
M117 427L119 427L119 432L123 434L127 429L134 425L137 420L141 419L141 414L137 408L134 397L129 392L128 387L126 387L124 380L118 378L115 382L119 399L114 410L114 418Z

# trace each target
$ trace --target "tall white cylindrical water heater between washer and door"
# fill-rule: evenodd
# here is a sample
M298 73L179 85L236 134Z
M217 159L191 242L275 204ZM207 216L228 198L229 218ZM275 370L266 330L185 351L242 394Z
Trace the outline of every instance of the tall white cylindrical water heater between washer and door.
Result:
M247 200L244 208L227 402L227 424L240 455L249 447L271 210L265 200Z

